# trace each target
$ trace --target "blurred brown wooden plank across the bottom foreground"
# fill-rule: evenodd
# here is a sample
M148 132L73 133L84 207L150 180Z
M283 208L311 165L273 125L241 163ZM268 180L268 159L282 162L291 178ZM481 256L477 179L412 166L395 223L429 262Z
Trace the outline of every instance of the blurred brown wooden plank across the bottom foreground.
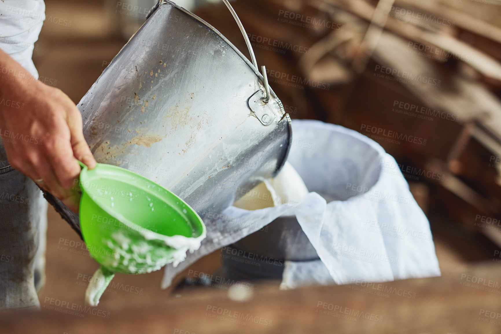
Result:
M501 267L495 264L458 270L447 277L369 286L359 283L288 291L260 286L246 302L231 301L226 291L217 290L195 291L148 308L123 305L111 310L109 318L88 313L82 318L47 309L4 314L0 315L0 328L5 334L501 331ZM49 303L42 300L42 305Z

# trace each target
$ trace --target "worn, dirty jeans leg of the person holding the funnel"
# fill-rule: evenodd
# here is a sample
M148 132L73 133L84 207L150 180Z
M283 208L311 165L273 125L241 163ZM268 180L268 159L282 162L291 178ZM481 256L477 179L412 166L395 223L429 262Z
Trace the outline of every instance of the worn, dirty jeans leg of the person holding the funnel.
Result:
M11 167L0 142L0 312L40 308L46 231L47 201Z

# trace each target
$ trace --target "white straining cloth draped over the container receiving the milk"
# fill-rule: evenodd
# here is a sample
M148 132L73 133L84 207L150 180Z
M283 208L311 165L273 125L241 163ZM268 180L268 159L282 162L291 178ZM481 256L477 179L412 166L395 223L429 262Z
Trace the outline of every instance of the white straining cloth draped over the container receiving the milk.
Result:
M292 215L321 261L287 262L285 288L440 275L428 220L391 155L339 125L294 120L293 133L288 161L311 193L299 205L229 207L211 217L200 249L166 266L163 288L200 257Z

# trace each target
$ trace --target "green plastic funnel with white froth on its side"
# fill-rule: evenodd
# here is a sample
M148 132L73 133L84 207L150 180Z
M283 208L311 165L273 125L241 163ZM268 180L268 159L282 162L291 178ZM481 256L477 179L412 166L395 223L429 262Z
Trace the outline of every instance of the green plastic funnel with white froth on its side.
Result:
M86 292L96 306L115 272L147 273L186 258L200 247L206 229L183 200L136 173L80 162L80 228L87 249L101 265Z

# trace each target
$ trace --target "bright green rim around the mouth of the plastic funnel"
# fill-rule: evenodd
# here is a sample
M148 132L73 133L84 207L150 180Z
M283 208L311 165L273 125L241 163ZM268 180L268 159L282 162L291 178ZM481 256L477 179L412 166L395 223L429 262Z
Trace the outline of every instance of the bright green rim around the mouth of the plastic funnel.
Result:
M82 193L85 193L87 196L89 196L90 199L92 199L92 197L88 194L88 192L85 190L85 182L92 182L92 177L89 177L88 176L88 172L92 172L92 171L89 171L87 166L85 164L83 164L82 162L79 161L79 164L80 166L82 167L82 171L80 172L80 181L79 181L79 185L80 185L80 189L82 190ZM176 194L172 193L170 190L160 186L159 184L155 183L154 181L151 181L150 179L148 178L145 178L143 177L142 175L139 175L137 173L134 173L134 172L131 172L125 168L122 168L122 167L119 167L119 166L115 166L115 165L111 165L111 164L106 164L106 163L97 163L96 165L96 168L99 168L101 170L105 170L108 169L108 170L118 170L120 172L123 172L125 173L127 176L129 177L135 177L137 179L140 179L140 180L143 180L144 182L148 183L148 184L153 184L155 187L159 187L160 189L162 189L163 191L166 192L166 194L168 196L172 196L174 197L176 200L178 200L180 203L184 204L185 205L185 208L183 209L186 209L188 211L188 213L191 213L194 215L194 218L195 219L192 219L191 217L187 217L187 221L188 221L188 224L191 225L191 229L192 229L192 232L196 232L196 228L198 228L197 230L200 231L200 233L197 233L198 235L196 237L186 237L186 236L183 236L183 235L173 235L173 236L166 236L166 235L163 235L163 234L160 234L160 233L157 233L157 232L154 232L154 231L151 231L147 228L144 228L144 227L141 227L133 222L131 222L129 219L125 218L123 215L121 215L119 212L116 212L116 211L112 211L110 210L109 208L107 207L103 207L99 202L95 202L95 204L101 209L103 210L104 212L106 212L108 215L110 215L110 217L113 217L115 219L117 219L118 221L120 221L121 223L123 223L127 228L130 228L132 230L135 230L135 231L138 231L139 233L141 234L145 234L145 232L141 232L141 231L148 231L148 239L158 239L158 240L163 240L163 241L167 241L169 240L170 238L186 238L186 239L190 239L190 240L193 240L193 239L197 239L197 238L205 238L205 235L206 235L206 227L205 227L205 224L203 223L203 220L200 218L200 216L196 213L195 210L193 210L193 208L191 208L189 206L189 204L187 204L185 201L183 201L179 196L177 196ZM113 174L111 175L113 177ZM117 181L121 181L123 182L124 180L120 180L118 178L113 178ZM146 187L142 187L142 185L134 185L134 187L137 187L137 188L140 188L141 190L145 191L146 193L150 194L152 197L158 197L157 194L153 193L150 189L146 188ZM82 196L81 200L80 200L80 205L82 205L83 203L83 199L84 197ZM172 206L176 209L179 209L181 207L181 205L179 206ZM186 214L185 214L186 215ZM83 229L82 233L85 234L85 229ZM84 235L84 238L85 238L85 235Z

